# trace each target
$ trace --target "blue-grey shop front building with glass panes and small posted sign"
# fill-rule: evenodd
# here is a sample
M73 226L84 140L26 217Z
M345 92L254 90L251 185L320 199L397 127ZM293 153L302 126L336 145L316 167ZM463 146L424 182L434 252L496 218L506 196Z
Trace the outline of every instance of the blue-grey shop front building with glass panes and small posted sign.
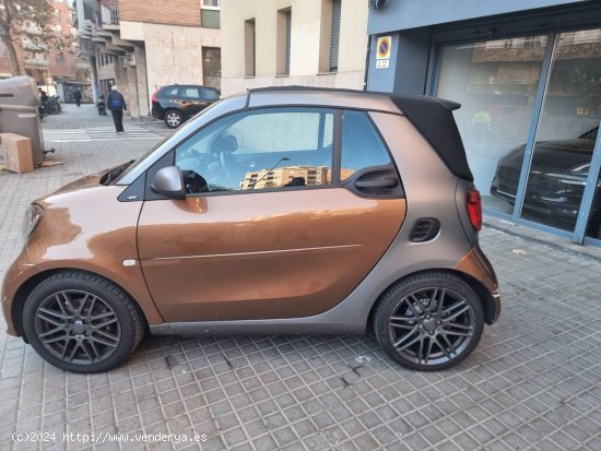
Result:
M601 3L372 5L367 87L462 105L485 214L601 246Z

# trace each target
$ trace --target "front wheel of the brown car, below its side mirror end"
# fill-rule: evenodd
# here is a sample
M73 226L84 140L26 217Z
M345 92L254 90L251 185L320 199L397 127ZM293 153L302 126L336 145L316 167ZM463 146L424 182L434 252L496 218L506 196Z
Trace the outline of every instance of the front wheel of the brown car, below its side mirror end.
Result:
M34 349L64 371L117 368L140 344L143 319L129 296L94 274L66 271L30 294L23 330Z

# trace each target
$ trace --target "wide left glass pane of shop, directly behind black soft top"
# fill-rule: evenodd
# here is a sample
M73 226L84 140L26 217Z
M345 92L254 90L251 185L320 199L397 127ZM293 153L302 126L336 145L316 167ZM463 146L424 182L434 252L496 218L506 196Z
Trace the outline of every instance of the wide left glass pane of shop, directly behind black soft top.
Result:
M461 104L455 118L485 209L514 210L546 40L529 36L443 49L436 95Z

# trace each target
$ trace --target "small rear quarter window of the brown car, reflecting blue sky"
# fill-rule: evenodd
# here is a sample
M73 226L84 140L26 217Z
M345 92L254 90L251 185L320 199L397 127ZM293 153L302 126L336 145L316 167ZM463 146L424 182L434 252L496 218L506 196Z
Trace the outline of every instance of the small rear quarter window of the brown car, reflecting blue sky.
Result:
M391 163L390 155L367 112L345 110L342 118L340 179L373 166Z

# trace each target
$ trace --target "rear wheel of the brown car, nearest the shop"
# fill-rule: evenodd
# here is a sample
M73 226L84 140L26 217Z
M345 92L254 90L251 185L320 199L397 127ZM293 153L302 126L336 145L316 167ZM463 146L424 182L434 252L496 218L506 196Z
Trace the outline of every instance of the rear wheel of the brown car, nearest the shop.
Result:
M392 285L374 313L376 339L406 368L435 371L463 360L484 329L482 302L461 278L426 272Z

